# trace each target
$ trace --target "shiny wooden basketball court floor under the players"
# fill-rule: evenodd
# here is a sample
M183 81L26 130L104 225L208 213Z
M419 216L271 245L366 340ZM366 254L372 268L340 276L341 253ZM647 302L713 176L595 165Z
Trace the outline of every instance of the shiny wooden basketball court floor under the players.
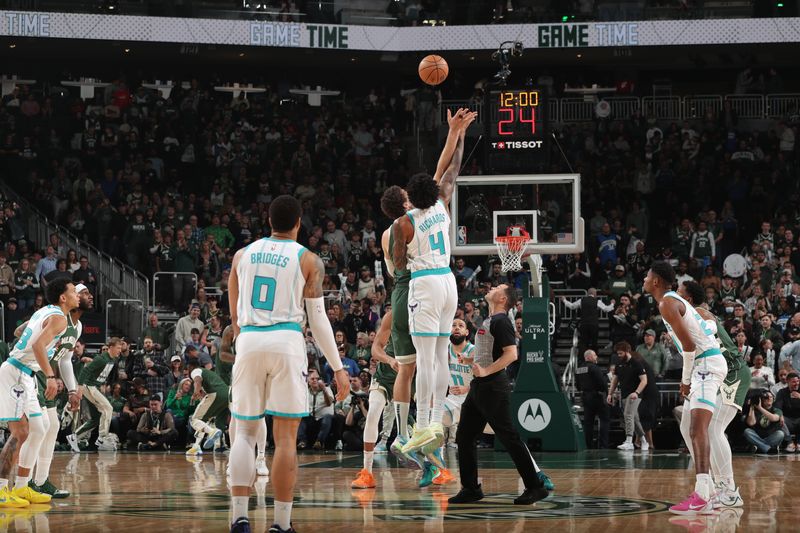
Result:
M452 451L448 460L455 464ZM353 491L360 455L301 454L294 526L300 533L800 531L800 454L736 456L745 507L691 522L666 510L693 487L684 454L551 453L537 460L556 485L547 500L513 505L521 490L516 471L507 455L485 450L480 468L487 498L448 506L457 484L418 489L416 473L398 468L391 456L376 456L377 489ZM225 532L226 465L222 454L190 462L177 452L58 453L52 479L73 496L0 512L0 533ZM258 482L250 505L254 531L272 523L271 502L269 482Z

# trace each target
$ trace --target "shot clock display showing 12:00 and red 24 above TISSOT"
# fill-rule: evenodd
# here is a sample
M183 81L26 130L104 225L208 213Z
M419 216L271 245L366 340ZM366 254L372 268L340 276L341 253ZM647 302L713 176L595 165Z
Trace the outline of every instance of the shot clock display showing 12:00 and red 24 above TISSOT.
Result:
M549 160L548 106L536 88L492 89L484 109L489 162L497 170L537 170Z

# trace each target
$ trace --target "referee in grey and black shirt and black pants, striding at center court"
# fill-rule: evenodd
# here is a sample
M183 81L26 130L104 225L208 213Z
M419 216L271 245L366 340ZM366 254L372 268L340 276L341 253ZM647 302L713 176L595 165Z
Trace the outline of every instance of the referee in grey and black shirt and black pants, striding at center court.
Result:
M514 503L530 505L548 495L536 475L533 457L511 420L511 384L506 367L517 360L517 343L508 311L514 308L516 301L514 288L506 284L494 287L486 295L489 318L475 334L474 378L461 407L461 422L456 432L461 491L450 498L450 503L471 503L483 498L478 484L477 439L487 423L508 450L525 483L525 492L515 498Z

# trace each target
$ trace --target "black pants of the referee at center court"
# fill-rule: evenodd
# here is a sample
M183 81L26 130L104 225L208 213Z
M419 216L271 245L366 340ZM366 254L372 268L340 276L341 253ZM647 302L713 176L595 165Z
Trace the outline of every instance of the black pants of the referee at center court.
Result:
M469 393L461 406L461 417L456 432L458 445L458 468L461 472L461 486L478 489L478 437L488 423L514 461L525 487L541 487L536 475L533 457L527 446L519 438L511 420L511 384L505 371L486 378L475 378Z

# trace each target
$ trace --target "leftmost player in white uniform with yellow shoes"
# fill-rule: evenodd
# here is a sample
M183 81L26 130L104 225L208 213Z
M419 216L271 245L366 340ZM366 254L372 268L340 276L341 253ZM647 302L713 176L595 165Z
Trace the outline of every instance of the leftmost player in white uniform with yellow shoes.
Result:
M47 417L42 416L33 376L43 370L47 382L45 398L55 398L58 386L50 358L67 329L67 314L78 307L78 293L71 281L62 278L51 281L45 295L50 305L33 314L8 360L0 365L0 419L8 422L11 432L0 454L4 469L0 472L0 507L24 507L50 501L49 495L28 486L49 424ZM16 454L16 449L19 449L18 461L9 461L7 455ZM18 464L13 491L8 488L8 464Z

